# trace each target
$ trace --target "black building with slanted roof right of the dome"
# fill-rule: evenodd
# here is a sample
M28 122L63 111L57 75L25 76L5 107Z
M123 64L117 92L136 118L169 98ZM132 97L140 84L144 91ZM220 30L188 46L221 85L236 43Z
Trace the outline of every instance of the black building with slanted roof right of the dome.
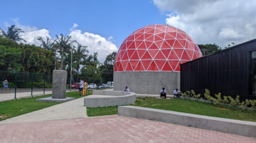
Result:
M256 39L180 64L180 90L191 89L256 100Z

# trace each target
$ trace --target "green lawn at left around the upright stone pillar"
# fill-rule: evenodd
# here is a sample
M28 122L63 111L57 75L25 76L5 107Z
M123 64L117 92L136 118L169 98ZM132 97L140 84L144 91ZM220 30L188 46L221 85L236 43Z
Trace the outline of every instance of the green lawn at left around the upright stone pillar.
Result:
M88 94L92 94L92 90L88 91ZM31 113L35 110L41 110L42 108L47 108L56 104L61 104L58 102L36 102L38 98L46 98L52 96L51 94L46 96L37 96L34 98L23 98L20 100L12 100L6 102L0 102L0 121L16 117L19 115L24 115L26 113ZM69 98L81 98L78 91L67 92L66 94Z

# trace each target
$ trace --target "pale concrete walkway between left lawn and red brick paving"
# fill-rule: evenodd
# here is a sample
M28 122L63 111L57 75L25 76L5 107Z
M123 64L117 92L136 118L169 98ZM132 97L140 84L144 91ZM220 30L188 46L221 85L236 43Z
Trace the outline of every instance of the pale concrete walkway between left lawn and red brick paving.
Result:
M32 113L6 119L4 121L0 121L0 124L74 119L84 117L87 117L86 106L84 106L84 98L78 98L76 100L71 100L69 102L43 108L42 110L36 110Z

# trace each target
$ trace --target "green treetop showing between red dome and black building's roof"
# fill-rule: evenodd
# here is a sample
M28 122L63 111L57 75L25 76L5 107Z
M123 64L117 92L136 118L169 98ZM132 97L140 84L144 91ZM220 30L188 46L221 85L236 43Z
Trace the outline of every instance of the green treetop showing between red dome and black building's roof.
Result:
M201 50L203 56L214 54L215 52L220 52L221 47L214 44L198 44L199 49Z

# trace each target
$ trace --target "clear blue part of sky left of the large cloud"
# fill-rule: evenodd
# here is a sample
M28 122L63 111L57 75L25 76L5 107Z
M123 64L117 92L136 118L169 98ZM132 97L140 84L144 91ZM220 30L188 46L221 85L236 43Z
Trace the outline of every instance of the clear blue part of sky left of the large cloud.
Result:
M54 38L61 33L68 35L76 23L82 32L112 36L116 47L134 30L148 24L165 24L166 18L149 0L5 1L0 13L4 14L0 18L3 28L5 22L15 24L12 19L19 18L20 24L46 28Z

